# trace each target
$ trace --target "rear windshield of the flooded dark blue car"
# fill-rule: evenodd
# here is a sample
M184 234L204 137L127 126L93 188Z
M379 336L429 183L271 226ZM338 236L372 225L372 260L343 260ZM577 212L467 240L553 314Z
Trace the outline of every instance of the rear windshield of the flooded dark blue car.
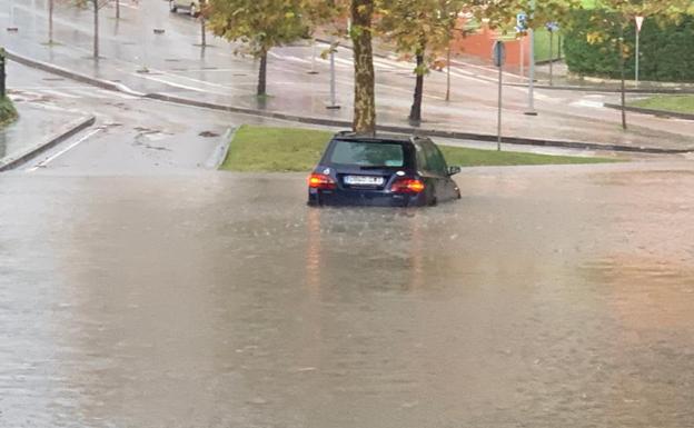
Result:
M403 168L405 152L397 142L336 140L330 162L359 167Z

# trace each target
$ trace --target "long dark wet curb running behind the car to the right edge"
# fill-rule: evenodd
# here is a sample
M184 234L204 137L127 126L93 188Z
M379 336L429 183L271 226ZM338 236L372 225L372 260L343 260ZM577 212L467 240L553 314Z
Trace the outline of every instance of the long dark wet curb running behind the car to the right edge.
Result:
M163 93L147 93L145 98L174 102L177 104L199 107L211 110L228 111L234 113L244 113L251 116L260 116L270 119L288 120L299 123L318 125L327 127L345 127L350 128L351 122L346 120L325 119L325 118L311 118L295 115L286 115L280 112L255 110L241 107L217 104L207 101L197 101L187 98L174 97ZM497 137L486 133L474 132L460 132L460 131L443 131L437 129L424 129L415 127L401 127L395 125L381 125L376 127L380 131L396 132L396 133L415 133L428 137L438 138L452 138L456 140L476 140L476 141L496 141ZM502 142L507 145L517 146L538 146L538 147L561 147L567 149L581 149L581 150L603 150L603 151L624 151L624 152L638 152L638 153L655 153L655 155L680 155L694 151L694 147L687 149L662 149L656 147L636 147L636 146L622 146L622 145L597 145L592 142L582 141L564 141L564 140L549 140L549 139L536 139L536 138L523 138L523 137L504 137Z

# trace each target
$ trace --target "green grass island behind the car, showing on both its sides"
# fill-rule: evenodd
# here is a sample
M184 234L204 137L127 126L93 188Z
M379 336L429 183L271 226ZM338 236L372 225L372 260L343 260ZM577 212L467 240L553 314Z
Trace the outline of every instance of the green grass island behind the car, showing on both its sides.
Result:
M333 132L305 128L242 126L220 169L242 172L309 171L320 159ZM518 165L605 163L614 159L548 156L439 146L449 165L492 167Z

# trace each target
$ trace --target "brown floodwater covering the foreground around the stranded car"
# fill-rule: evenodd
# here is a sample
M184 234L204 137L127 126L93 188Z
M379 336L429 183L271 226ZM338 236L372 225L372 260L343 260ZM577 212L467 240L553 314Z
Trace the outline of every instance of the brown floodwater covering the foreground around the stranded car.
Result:
M694 426L691 165L304 179L0 177L0 426Z

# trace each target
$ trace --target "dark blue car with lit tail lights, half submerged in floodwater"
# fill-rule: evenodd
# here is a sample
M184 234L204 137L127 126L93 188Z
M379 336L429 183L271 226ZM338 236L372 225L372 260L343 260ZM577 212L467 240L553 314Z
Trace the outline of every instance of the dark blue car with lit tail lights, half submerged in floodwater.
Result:
M340 132L308 179L311 206L423 207L460 199L436 145L424 137Z

